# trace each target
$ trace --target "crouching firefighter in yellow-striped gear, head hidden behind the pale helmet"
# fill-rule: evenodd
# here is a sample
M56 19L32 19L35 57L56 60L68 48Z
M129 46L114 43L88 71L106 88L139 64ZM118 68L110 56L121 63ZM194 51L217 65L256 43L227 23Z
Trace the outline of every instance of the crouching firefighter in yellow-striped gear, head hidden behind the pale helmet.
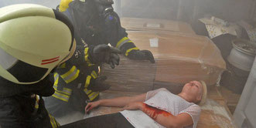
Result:
M101 90L110 87L103 83L106 77L98 77L97 67L106 62L114 68L119 62L119 52L104 44L91 45L85 49L77 45L72 58L60 65L54 73L55 93L45 98L49 113L56 117L73 112L84 113L86 100L94 101Z

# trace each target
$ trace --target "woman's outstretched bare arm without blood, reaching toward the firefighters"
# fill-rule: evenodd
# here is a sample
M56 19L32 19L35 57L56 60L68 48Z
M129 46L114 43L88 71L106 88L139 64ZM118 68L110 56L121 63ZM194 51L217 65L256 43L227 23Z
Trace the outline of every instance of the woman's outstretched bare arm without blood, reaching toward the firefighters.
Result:
M87 106L85 107L85 111L88 112L90 111L90 109L93 109L94 107L97 107L97 106L123 107L123 106L126 106L128 103L144 102L146 94L147 93L143 93L138 96L124 96L124 97L118 97L114 99L100 99L98 101L88 103Z

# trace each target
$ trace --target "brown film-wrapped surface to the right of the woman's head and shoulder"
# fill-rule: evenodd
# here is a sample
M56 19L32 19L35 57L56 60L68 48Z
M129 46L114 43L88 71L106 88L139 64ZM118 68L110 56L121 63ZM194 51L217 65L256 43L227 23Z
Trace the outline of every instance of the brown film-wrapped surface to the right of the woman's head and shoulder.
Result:
M208 87L207 103L201 106L197 128L233 128L234 120L217 86Z

